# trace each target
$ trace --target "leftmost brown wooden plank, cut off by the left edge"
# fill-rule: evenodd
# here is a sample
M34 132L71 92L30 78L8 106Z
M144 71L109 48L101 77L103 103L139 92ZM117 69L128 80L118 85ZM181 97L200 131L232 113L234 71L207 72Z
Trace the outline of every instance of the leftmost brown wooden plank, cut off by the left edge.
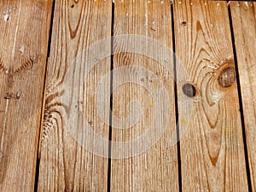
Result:
M33 191L52 1L0 3L0 190Z

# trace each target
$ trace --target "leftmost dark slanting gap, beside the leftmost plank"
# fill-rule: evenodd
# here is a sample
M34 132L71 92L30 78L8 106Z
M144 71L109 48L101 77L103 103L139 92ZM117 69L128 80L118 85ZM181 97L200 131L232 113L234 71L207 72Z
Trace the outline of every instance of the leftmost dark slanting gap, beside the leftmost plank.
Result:
M45 98L46 76L47 76L47 67L48 67L48 61L49 61L54 15L55 15L55 0L52 1L51 13L50 13L49 37L48 37L49 39L48 39L47 58L46 58L45 72L44 72L44 92L43 92L43 102L42 102L42 111L41 111L41 122L40 122L40 126L39 126L40 131L39 131L39 136L38 136L38 153L37 153L37 165L36 165L34 192L38 191L38 178L39 178L40 154L41 154L41 136L42 136L42 131L43 131L43 120L44 120L44 98Z

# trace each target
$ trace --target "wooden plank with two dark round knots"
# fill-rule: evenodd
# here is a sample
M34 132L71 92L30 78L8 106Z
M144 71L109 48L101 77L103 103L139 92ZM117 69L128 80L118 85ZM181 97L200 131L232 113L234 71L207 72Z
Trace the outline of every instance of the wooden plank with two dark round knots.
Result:
M174 24L183 191L247 191L227 3L176 0Z

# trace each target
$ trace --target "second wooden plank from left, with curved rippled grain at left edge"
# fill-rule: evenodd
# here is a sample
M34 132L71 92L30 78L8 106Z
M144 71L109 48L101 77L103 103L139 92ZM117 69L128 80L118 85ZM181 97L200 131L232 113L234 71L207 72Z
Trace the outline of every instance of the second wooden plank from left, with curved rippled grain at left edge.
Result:
M97 84L111 68L111 5L55 1L38 191L107 191L108 158L94 151L101 143L84 131L89 125L108 140L109 117L104 122L98 116L95 101ZM95 47L98 41L103 44ZM108 89L102 96L110 90L110 79L105 80ZM109 111L109 103L104 110ZM104 147L108 157L108 145Z

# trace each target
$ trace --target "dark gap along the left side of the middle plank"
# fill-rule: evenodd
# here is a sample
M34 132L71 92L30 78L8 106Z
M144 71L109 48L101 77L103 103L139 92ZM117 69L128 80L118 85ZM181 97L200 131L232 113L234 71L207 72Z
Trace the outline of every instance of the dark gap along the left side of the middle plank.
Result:
M112 117L113 117L113 25L114 25L114 3L112 3L111 20L111 73L110 73L110 101L109 101L109 135L108 135L108 192L111 191L111 148L112 148Z

